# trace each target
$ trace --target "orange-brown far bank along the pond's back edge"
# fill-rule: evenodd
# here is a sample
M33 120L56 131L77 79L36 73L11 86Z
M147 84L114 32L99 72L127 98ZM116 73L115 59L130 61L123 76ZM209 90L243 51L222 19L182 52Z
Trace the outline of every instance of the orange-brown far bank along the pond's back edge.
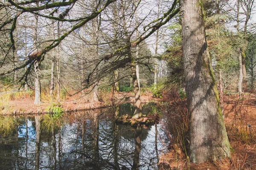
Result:
M159 101L159 99L153 99L151 94L141 96L143 103L151 101ZM124 103L134 103L133 93L118 93L115 95L115 104L121 105ZM88 102L84 98L72 99L69 98L66 101L60 102L65 112L73 111L86 111L97 108L108 108L112 107L111 101L107 102ZM51 102L42 102L41 105L35 105L34 100L30 98L16 99L9 101L9 109L2 111L2 115L26 115L26 114L38 114L46 113L47 107L51 105Z

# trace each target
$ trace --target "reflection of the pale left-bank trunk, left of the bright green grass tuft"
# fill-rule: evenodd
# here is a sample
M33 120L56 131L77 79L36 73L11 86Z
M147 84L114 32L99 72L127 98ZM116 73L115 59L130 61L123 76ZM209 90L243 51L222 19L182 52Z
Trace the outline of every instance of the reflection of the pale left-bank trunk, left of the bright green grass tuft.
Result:
M35 170L40 167L41 117L35 116Z

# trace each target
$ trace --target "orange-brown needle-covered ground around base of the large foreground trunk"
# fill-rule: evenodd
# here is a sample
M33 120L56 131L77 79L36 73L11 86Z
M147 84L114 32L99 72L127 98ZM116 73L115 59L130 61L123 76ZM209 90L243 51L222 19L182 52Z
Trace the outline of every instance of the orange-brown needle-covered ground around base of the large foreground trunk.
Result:
M256 170L256 97L234 95L224 98L224 122L230 145L230 159L194 164L178 148L160 157L160 170ZM249 129L248 125L251 127Z

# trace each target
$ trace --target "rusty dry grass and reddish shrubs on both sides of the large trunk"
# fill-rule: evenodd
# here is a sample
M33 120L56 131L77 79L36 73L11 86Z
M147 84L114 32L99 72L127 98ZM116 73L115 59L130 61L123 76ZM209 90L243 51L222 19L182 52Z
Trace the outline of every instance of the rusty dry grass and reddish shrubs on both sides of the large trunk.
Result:
M254 94L226 96L225 124L233 153L230 159L204 164L193 164L187 157L189 144L186 142L188 133L188 114L186 103L175 100L174 107L168 106L169 117L166 122L166 134L170 144L169 153L162 156L162 170L255 170L256 169L256 99ZM249 124L251 127L249 128ZM166 168L166 164L168 168Z

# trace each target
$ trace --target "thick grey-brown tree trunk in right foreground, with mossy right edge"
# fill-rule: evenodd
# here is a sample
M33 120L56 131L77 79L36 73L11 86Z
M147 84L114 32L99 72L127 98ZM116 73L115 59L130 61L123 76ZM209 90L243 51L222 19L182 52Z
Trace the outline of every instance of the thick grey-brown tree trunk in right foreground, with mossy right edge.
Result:
M190 115L190 159L194 163L230 156L199 0L182 0L182 47L187 107Z

